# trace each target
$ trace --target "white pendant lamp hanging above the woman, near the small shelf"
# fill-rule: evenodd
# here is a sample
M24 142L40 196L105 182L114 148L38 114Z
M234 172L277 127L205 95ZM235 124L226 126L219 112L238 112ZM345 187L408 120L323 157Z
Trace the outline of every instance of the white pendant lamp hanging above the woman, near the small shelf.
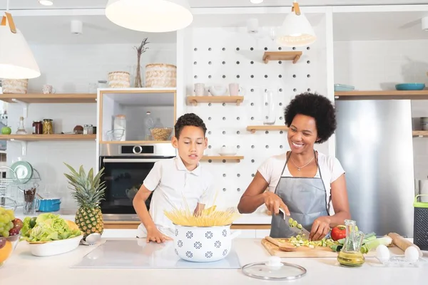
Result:
M285 16L277 43L280 46L309 46L316 40L314 29L305 15L300 12L299 4L295 0L291 13Z

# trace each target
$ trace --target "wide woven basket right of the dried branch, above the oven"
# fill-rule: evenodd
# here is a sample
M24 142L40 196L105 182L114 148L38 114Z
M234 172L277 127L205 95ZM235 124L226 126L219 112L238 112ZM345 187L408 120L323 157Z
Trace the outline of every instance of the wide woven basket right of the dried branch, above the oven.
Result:
M146 65L146 87L176 87L177 66L166 63Z

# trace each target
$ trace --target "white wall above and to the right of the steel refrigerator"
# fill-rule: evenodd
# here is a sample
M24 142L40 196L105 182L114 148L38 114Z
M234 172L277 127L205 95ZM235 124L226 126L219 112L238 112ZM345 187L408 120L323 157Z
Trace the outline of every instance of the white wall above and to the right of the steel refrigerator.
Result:
M395 84L409 82L428 86L427 47L428 40L335 42L335 83L357 90L394 90ZM412 100L414 122L427 116L428 100ZM414 138L413 150L414 177L427 180L428 138Z

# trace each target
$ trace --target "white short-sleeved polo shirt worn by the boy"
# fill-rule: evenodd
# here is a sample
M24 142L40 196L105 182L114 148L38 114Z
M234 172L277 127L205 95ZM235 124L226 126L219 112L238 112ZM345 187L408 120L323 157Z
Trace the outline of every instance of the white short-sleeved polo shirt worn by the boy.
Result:
M186 209L186 202L190 212L193 212L198 203L210 202L214 189L213 177L209 172L203 171L202 165L198 164L195 170L189 171L179 156L156 162L143 185L148 190L155 191L149 213L159 231L169 237L173 237L174 225L163 211L170 211L173 206ZM146 227L142 223L138 226L137 236L147 236Z

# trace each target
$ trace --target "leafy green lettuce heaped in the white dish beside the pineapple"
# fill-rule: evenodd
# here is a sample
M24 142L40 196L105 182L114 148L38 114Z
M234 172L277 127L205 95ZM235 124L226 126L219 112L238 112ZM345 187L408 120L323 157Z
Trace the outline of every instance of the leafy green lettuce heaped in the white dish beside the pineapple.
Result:
M66 220L58 214L44 213L36 218L36 224L31 228L31 217L26 217L21 229L21 240L27 242L51 242L61 239L71 239L81 235L78 229L71 229Z

